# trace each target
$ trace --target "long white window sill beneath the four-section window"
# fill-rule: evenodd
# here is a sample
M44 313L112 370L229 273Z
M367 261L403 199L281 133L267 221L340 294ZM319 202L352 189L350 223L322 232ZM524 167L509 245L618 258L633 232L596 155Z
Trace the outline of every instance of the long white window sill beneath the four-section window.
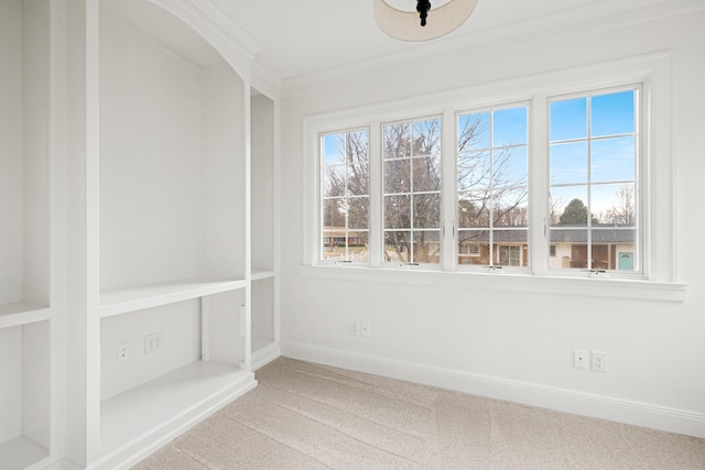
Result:
M637 280L538 276L532 274L469 273L423 269L302 265L302 277L356 282L386 282L479 291L513 291L587 297L632 298L669 303L685 302L687 284Z

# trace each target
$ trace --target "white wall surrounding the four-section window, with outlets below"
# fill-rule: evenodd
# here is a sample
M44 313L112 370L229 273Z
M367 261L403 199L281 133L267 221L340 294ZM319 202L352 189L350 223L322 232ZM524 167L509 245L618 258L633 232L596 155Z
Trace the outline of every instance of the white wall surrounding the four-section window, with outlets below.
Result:
M705 436L699 255L705 11L662 17L632 23L625 14L566 24L420 63L390 64L338 83L322 80L318 90L285 92L280 168L284 356ZM690 284L685 303L568 296L558 288L555 294L501 293L471 284L420 288L302 276L302 167L304 159L314 157L302 154L304 117L663 51L673 54L676 281ZM370 323L371 337L349 336L350 320ZM607 352L609 371L574 369L576 348Z

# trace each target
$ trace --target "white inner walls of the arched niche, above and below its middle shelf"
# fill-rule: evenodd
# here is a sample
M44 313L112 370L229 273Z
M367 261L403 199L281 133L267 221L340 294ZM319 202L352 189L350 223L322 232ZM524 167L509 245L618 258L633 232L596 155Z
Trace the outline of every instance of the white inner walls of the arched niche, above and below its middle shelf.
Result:
M100 20L100 289L245 278L243 81L225 62L200 66ZM239 292L212 296L214 360L243 359L231 339L242 303ZM158 332L163 351L147 354ZM197 299L104 318L101 400L200 359L200 341Z

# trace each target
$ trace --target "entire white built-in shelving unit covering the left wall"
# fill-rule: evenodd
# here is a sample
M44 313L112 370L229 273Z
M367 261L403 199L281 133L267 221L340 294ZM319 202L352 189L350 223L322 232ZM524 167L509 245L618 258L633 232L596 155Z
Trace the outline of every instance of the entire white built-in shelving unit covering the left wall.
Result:
M252 311L276 342L256 46L208 2L0 2L3 470L128 468L256 386Z

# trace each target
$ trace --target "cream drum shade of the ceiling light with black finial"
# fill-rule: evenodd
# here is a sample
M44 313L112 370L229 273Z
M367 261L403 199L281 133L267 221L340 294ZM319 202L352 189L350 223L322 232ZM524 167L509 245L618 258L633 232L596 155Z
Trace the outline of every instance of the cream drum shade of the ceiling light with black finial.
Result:
M384 0L375 0L375 20L379 28L402 41L427 41L448 34L470 17L478 0L451 0L438 8L432 7L425 26L415 12L415 0L408 1L413 3L414 11L398 10Z

